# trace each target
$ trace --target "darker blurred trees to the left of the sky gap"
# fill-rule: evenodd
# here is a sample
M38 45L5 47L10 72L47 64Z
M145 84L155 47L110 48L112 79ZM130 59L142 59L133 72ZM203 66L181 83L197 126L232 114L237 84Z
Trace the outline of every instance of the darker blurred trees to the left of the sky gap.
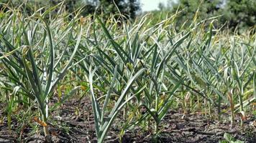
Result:
M0 2L8 3L12 6L19 6L22 3L26 3L29 6L37 7L55 6L62 1L63 0L0 0ZM109 14L119 14L120 11L121 14L134 19L137 11L140 10L140 0L65 0L64 6L65 10L69 13L83 7L81 13L83 16L96 12L108 17Z

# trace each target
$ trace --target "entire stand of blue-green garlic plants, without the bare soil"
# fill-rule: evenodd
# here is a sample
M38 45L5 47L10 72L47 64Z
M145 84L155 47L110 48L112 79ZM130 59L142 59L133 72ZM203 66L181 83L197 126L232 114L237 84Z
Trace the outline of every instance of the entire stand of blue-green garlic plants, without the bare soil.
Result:
M49 107L49 99L67 72L76 74L81 89L90 89L99 142L120 112L123 132L142 122L150 125L151 119L159 132L173 97L196 97L198 108L204 104L210 115L216 108L219 119L228 104L232 124L237 107L245 116L244 106L255 100L253 30L232 36L213 23L205 28L193 21L176 31L175 15L155 25L147 23L147 16L132 23L123 16L104 21L74 13L70 20L62 9L52 16L52 9L32 16L9 9L1 17L1 89L7 91L2 94L12 93L10 112L14 102L36 101L45 136L50 136L48 112L59 105ZM77 90L73 87L63 99Z

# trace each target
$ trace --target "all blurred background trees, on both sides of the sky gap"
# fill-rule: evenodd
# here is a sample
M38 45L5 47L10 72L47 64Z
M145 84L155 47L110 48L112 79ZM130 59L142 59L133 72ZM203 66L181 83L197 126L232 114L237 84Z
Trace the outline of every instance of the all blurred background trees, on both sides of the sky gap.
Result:
M42 6L55 6L63 0L0 0L10 6L20 6L24 3L24 11L28 14ZM82 16L88 14L102 14L107 19L110 14L123 14L131 19L140 14L140 0L65 0L65 10L69 13L79 7L83 7ZM116 8L118 7L118 9ZM175 17L176 29L182 26L190 26L190 21L202 21L214 16L218 22L214 23L216 28L224 25L224 28L248 29L255 27L256 1L255 0L169 0L167 6L160 3L160 11L151 11L152 19L149 22L155 24L166 16L173 16L176 11L181 11ZM1 8L1 7L0 7Z

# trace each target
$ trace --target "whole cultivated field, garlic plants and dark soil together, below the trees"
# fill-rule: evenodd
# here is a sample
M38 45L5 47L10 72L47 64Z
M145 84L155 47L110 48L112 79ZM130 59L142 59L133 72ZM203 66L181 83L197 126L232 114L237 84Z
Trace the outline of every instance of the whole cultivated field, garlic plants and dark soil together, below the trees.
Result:
M255 142L255 27L79 14L1 11L0 142Z

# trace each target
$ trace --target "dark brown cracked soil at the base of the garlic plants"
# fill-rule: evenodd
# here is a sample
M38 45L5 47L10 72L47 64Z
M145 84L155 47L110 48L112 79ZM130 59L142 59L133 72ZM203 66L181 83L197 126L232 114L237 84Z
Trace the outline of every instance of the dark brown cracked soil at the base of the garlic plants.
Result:
M9 131L3 110L4 104L0 104L0 142L45 142L42 132L35 133L35 129L29 126L28 123L37 124L32 119L27 124L21 124L12 117L12 130ZM228 117L228 114L223 114L222 121L216 122L200 113L184 115L182 112L170 111L161 122L161 132L157 137L153 137L152 131L134 127L124 134L122 142L219 142L224 139L225 132L244 142L256 142L255 116L247 117L244 132L239 126L239 117L236 117L233 128L229 126ZM116 121L106 142L119 142L122 120L118 118ZM86 97L81 101L71 99L66 102L52 113L49 122L53 142L96 142L91 103Z

